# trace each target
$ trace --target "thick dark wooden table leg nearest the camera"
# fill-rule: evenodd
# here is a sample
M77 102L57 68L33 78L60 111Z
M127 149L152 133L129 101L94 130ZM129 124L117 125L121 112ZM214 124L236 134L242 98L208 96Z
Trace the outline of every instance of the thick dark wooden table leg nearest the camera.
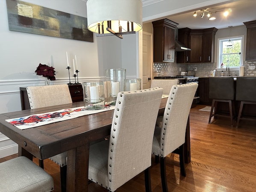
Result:
M67 192L88 192L89 142L68 151Z

